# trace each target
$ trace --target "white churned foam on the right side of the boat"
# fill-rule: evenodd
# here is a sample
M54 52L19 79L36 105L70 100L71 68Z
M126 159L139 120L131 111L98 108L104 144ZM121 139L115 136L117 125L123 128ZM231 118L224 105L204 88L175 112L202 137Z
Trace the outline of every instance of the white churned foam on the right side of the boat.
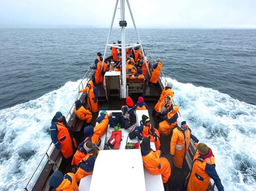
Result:
M192 134L212 148L225 191L256 190L256 106L210 88L168 81Z

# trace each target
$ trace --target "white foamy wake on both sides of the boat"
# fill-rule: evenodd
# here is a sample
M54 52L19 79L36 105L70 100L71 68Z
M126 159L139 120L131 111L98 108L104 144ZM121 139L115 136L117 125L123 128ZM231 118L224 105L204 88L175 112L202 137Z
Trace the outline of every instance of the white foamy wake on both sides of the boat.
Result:
M50 143L53 115L67 114L80 81L0 110L0 190L22 190ZM256 190L256 106L210 88L168 81L192 133L212 148L225 191Z

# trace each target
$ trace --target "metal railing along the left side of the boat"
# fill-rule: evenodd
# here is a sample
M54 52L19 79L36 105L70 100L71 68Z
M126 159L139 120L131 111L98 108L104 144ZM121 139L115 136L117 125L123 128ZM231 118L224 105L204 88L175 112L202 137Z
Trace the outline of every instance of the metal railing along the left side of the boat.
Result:
M106 58L108 56L111 56L112 55L112 51L111 50L108 50L107 53L106 53ZM91 64L91 66L94 64L94 62ZM87 85L87 83L90 81L90 79L93 77L94 75L94 70L92 70L91 68L88 69L88 71L85 73L81 83L79 83L78 85L78 89L84 89ZM76 97L76 100L75 102L78 100L78 97L81 97L81 94L79 93ZM74 109L74 105L75 105L75 102L72 104L69 112L67 113L67 116L66 116L66 120L69 121L69 120L73 120L72 117L72 111ZM38 165L36 166L35 170L32 172L28 182L25 184L23 190L24 191L30 191L34 184L36 183L37 179L38 179L38 176L40 175L40 173L42 172L43 170L43 167L46 165L47 161L49 160L49 164L53 163L55 165L55 162L52 161L50 159L50 155L52 154L53 152L53 149L54 149L54 144L53 142L51 141L49 146L47 147L46 151L44 152L44 154L42 155L42 158L40 159ZM58 166L56 166L58 168ZM38 171L38 172L37 172ZM34 182L31 182L31 181L34 181ZM29 188L28 188L29 187Z

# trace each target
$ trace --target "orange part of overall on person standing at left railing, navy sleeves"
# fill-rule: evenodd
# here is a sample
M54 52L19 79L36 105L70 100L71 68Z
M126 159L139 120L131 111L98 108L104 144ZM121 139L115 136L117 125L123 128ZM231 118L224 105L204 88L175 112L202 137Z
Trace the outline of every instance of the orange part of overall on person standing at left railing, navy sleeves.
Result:
M63 123L60 122L56 123L56 126L58 128L57 139L61 145L60 150L64 158L69 158L73 154L72 140L69 134L69 130L63 125Z

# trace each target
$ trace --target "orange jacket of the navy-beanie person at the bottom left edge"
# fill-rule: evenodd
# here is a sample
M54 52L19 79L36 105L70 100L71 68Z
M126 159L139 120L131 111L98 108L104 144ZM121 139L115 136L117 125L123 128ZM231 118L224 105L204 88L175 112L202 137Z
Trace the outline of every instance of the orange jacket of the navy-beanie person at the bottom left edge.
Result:
M76 182L74 173L67 173L64 176L62 183L55 188L56 191L78 191L78 185Z

